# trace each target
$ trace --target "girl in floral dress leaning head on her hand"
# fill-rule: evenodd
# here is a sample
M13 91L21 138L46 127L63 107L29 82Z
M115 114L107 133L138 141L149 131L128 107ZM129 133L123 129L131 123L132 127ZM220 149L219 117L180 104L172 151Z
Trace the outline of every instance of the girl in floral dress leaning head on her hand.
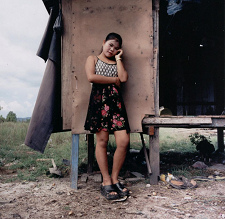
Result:
M85 64L87 79L93 84L84 127L96 133L95 154L103 177L101 194L108 200L129 194L128 189L118 181L130 141L130 128L120 91L121 83L128 79L121 47L121 36L110 33L103 41L100 55L89 56ZM117 148L110 176L107 145L111 133L115 136Z

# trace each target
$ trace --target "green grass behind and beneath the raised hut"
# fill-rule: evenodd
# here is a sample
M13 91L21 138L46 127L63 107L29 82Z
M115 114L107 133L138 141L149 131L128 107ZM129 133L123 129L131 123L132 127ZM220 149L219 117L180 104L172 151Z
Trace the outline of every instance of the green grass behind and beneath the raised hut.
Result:
M54 159L57 167L64 174L69 174L69 166L63 164L62 160L70 160L71 158L71 132L62 132L52 134L44 154L41 154L24 145L24 139L28 129L28 123L0 123L0 176L4 173L11 173L7 181L15 180L36 180L40 176L49 174L48 170L52 167L50 159ZM195 146L190 142L189 135L196 130L187 129L160 129L160 155L168 153L194 153ZM211 135L212 143L216 142L216 135ZM144 135L146 146L148 146L148 136ZM141 149L141 138L137 133L131 134L130 147L132 149ZM108 151L109 162L112 162L112 155L116 145L114 137L110 136ZM171 154L171 156L173 156ZM42 161L40 161L42 159ZM110 165L109 165L110 166ZM85 135L80 135L79 142L79 172L85 172L87 168L87 142ZM127 168L127 166L125 166ZM98 170L96 161L94 162L94 170ZM185 166L177 165L170 167L173 173L190 174Z

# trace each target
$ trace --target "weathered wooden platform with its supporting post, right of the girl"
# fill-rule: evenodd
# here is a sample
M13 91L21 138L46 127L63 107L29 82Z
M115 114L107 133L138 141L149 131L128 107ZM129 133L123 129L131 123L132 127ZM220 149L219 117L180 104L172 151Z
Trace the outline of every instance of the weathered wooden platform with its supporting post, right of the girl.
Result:
M158 183L160 174L159 128L216 128L218 150L224 151L225 116L148 116L142 121L143 133L149 138L150 184Z

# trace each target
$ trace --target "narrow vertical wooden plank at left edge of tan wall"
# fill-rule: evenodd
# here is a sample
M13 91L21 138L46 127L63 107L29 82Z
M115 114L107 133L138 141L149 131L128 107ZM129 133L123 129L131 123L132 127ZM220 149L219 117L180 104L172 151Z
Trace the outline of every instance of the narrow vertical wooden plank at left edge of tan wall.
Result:
M72 1L62 1L63 35L62 35L62 118L63 130L71 129L72 122L72 68L71 68L71 44L72 44Z

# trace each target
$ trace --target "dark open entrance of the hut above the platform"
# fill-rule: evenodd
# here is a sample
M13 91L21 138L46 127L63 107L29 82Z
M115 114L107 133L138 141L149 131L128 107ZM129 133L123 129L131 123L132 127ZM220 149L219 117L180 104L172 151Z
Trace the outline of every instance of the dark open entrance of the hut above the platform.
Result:
M172 14L168 2L182 10ZM221 115L224 1L160 1L159 22L160 106L173 115Z

